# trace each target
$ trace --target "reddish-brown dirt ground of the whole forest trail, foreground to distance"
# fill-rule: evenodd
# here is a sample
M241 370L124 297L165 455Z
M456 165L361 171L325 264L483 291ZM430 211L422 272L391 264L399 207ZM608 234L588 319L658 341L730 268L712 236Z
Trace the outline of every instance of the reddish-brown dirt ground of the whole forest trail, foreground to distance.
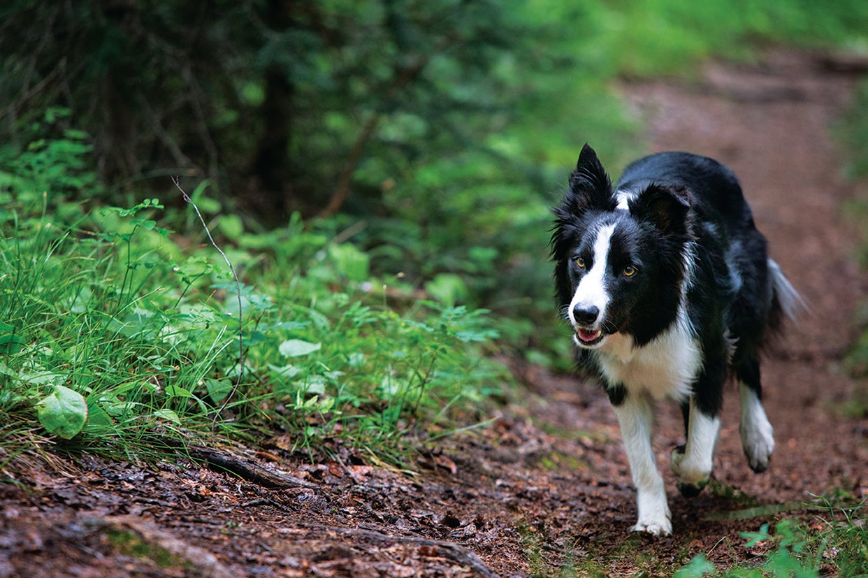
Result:
M774 51L751 65L710 64L694 82L621 86L654 150L733 167L774 259L812 307L764 365L778 443L765 474L742 456L730 395L715 482L681 497L668 472L679 412L661 405L655 448L674 535L628 532L633 489L605 395L523 366L521 404L438 443L415 473L341 451L311 463L280 439L235 450L250 460L243 478L186 460L19 457L3 466L17 483L0 486L0 575L510 576L570 565L667 575L700 553L721 568L753 561L763 546L745 548L740 532L774 522L776 510L812 522L818 513L802 505L812 495L865 497L868 421L838 408L857 385L841 358L866 278L853 257L858 231L841 213L854 189L829 135L855 82L815 56ZM293 478L257 477L256 463Z

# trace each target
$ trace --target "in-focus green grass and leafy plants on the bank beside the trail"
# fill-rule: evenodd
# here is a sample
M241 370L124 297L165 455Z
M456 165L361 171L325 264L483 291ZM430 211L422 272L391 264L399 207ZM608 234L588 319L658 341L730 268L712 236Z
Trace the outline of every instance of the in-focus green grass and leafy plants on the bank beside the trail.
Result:
M86 151L76 134L61 144L74 159ZM56 160L57 149L31 152ZM487 312L375 278L369 256L327 224L296 217L253 235L214 216L211 227L232 239L236 283L201 226L161 227L156 199L68 200L62 192L90 183L63 166L72 168L40 182L39 163L0 174L6 454L40 438L132 456L155 436L216 429L398 461L408 433L472 423L506 379L486 356L497 335ZM194 201L207 205L205 193Z

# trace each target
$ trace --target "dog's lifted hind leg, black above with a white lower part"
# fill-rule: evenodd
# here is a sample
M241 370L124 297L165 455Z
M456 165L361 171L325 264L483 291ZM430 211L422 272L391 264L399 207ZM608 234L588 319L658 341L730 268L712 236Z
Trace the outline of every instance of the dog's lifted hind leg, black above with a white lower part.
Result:
M745 450L751 470L759 473L768 469L774 451L772 424L762 404L759 383L759 359L746 358L736 370L741 402L741 447Z

